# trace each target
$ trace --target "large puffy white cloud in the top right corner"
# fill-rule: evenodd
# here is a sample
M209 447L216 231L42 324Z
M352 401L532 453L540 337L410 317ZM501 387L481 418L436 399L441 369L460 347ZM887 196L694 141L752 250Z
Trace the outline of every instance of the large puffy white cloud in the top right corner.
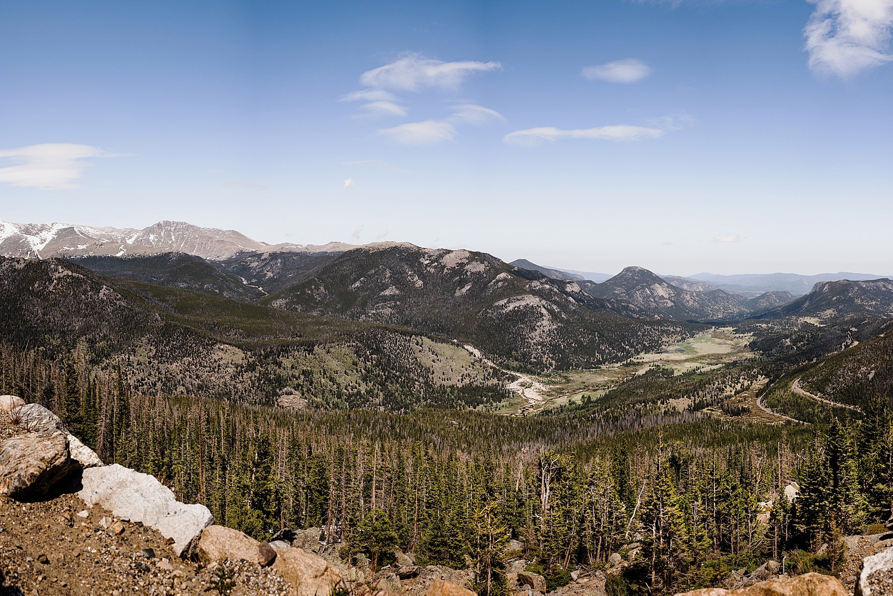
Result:
M893 62L893 0L809 0L815 11L803 34L809 68L848 79Z

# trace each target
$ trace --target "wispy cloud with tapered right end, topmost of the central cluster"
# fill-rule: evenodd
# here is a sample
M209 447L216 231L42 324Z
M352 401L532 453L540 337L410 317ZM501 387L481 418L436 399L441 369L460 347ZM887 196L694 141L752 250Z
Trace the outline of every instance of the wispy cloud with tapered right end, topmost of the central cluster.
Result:
M405 55L398 60L363 72L360 83L376 89L421 91L425 88L455 89L479 72L502 70L497 62L444 62L421 55Z

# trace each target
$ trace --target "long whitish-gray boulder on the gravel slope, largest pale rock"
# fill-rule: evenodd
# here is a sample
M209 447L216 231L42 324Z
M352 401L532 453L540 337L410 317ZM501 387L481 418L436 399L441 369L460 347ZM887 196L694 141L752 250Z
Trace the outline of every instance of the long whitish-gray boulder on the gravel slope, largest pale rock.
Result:
M173 550L180 557L191 554L204 528L213 522L204 505L180 503L153 476L129 467L91 467L84 470L81 483L84 488L78 496L88 507L99 505L114 516L158 530L173 540Z

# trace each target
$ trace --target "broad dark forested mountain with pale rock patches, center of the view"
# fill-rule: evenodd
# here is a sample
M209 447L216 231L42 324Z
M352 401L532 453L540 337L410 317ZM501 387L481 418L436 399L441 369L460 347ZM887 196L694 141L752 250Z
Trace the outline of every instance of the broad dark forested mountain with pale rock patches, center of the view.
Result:
M617 362L690 330L617 315L574 281L555 281L484 253L413 245L349 251L264 301L411 327L472 343L509 367L538 371Z

